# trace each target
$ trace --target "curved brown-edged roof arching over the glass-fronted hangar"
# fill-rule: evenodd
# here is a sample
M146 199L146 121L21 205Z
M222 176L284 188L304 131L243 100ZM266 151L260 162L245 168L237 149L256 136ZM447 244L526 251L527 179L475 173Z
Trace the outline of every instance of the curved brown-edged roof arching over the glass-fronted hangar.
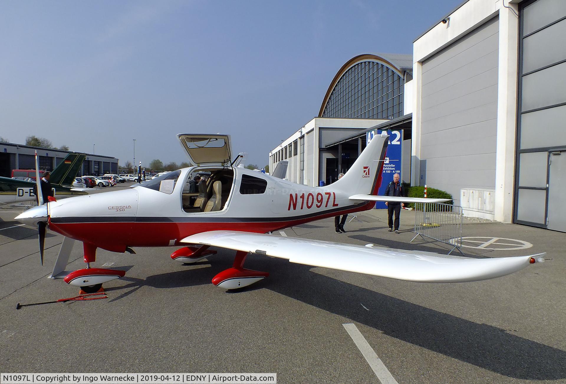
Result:
M332 82L330 83L328 90L324 95L322 105L320 106L319 117L323 117L324 110L327 106L328 100L331 98L332 91L335 89L338 82L342 79L342 76L344 76L351 68L363 62L375 62L383 64L383 66L390 68L393 72L399 75L401 79L405 78L405 72L409 72L409 74L411 75L413 72L413 55L411 54L370 53L353 57L340 68L340 70L334 76L334 79L332 79Z

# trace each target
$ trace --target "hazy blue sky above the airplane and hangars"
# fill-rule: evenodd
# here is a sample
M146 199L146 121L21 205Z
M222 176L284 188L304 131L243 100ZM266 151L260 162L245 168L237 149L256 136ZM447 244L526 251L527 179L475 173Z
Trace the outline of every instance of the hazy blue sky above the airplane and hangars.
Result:
M412 53L461 0L3 1L0 136L136 162L186 161L177 133L268 152L318 115L342 64Z

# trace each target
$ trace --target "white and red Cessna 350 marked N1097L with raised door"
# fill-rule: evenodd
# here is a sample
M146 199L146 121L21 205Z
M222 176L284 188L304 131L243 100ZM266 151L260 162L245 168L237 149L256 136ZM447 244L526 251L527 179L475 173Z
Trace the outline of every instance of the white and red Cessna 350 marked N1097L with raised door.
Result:
M132 247L184 246L171 254L191 263L215 254L210 247L236 251L233 267L212 283L225 289L249 286L267 272L243 267L248 253L290 262L353 271L415 282L469 282L518 271L542 257L474 259L418 251L372 248L272 235L282 230L338 214L373 208L375 201L440 202L440 199L376 196L381 183L388 136L375 136L346 174L325 187L309 187L230 163L228 135L180 134L183 148L196 164L135 188L48 202L16 219L37 225L40 255L46 224L66 236L52 278L100 290L102 283L125 271L91 267L96 249L135 253ZM209 174L198 192L189 192L192 176ZM74 240L83 242L85 269L63 271Z

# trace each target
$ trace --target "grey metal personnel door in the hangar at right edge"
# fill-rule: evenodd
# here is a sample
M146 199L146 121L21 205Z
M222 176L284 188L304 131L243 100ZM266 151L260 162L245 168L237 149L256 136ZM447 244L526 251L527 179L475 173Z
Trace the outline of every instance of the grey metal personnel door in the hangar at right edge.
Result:
M550 153L547 228L566 232L566 151Z

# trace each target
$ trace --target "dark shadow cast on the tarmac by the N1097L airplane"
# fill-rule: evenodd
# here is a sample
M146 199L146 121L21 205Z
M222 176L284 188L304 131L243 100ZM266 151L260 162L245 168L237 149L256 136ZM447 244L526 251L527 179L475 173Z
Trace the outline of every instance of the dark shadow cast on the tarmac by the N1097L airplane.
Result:
M115 301L131 295L142 286L174 288L211 284L212 277L230 267L232 260L231 254L221 249L216 256L211 257L211 261L192 264L190 270L152 275L145 279L125 277L123 280L131 283L109 288L107 291L127 290L112 300ZM192 267L194 265L197 266L196 269ZM245 294L246 291L267 288L370 326L404 342L503 376L529 380L566 378L565 351L509 334L498 327L478 324L354 286L312 272L311 266L293 264L286 260L251 254L247 258L246 267L269 271L271 275L236 293ZM359 303L366 303L370 311L362 309Z

